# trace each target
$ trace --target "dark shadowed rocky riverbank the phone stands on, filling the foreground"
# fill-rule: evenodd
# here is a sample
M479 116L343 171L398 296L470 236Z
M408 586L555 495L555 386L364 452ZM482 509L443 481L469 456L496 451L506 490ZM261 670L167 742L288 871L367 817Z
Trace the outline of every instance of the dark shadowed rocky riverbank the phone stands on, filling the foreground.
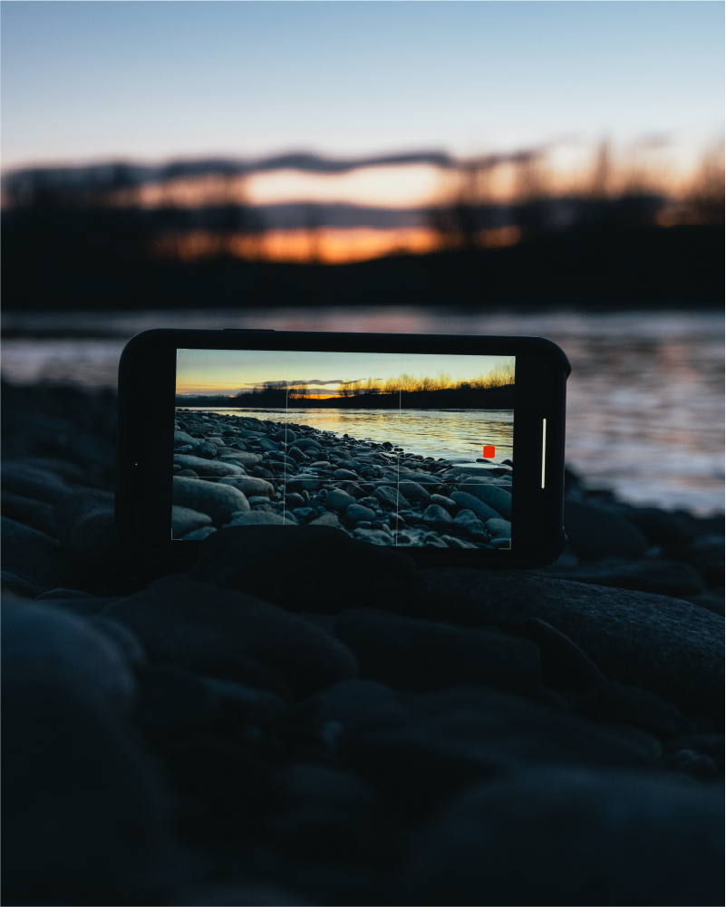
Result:
M0 385L0 900L720 907L722 518L569 476L551 567L417 571L356 533L466 541L423 517L471 508L348 508L392 460L456 503L449 463L182 421L178 455L232 468L178 463L206 517L178 529L216 531L144 560L113 529L113 398ZM204 510L224 487L248 507ZM283 498L298 525L230 525Z

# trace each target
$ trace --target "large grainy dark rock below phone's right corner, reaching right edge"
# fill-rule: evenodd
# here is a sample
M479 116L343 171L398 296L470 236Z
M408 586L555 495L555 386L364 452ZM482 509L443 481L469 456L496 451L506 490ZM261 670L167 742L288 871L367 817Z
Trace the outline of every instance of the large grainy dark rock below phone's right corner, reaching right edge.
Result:
M650 689L686 715L722 717L723 619L645 592L513 571L417 574L421 612L465 626L536 617L573 639L605 677Z

